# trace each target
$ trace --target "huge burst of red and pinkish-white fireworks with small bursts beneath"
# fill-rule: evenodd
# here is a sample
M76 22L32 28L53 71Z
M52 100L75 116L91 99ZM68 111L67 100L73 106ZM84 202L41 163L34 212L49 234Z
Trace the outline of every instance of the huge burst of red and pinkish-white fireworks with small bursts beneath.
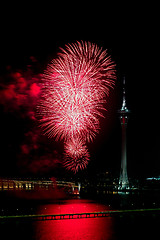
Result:
M64 141L68 169L76 172L86 167L85 144L99 132L105 98L115 79L115 65L107 51L90 42L66 45L48 65L39 108L41 123L49 137Z

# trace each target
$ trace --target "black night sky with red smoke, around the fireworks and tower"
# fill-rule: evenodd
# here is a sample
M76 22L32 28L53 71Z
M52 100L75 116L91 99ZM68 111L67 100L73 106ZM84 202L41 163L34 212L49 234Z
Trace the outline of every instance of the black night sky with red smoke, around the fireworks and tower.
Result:
M145 3L146 4L146 3ZM160 175L159 31L156 6L66 6L38 9L6 7L0 37L0 176L64 176L63 143L39 128L36 106L47 64L59 47L76 40L108 49L116 63L117 81L110 91L101 131L88 144L86 173L110 171L119 176L122 104L126 77L130 177Z

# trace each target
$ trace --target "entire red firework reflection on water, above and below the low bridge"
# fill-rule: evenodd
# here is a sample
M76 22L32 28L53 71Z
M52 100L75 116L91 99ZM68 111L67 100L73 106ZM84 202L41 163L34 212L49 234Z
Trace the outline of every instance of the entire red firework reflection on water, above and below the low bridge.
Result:
M62 214L107 210L107 206L91 203L89 201L85 202L82 200L69 201L64 204L56 205L57 204L45 205L46 212ZM38 213L42 214L42 209ZM108 240L111 239L113 235L113 222L110 217L66 219L56 221L49 220L36 222L35 225L36 240Z

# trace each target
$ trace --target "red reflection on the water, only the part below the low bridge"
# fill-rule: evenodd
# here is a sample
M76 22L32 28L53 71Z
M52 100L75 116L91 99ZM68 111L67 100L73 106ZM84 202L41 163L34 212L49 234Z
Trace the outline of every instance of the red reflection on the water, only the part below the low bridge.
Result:
M112 218L56 220L35 224L36 240L108 240L112 235Z

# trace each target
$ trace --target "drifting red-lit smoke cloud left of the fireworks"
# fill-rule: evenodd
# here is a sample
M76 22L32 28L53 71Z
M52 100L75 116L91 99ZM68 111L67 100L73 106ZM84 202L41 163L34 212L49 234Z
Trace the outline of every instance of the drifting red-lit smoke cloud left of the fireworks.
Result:
M31 60L36 63L34 57ZM1 132L6 139L2 144L2 161L6 164L2 164L0 173L7 172L10 165L14 166L10 172L35 175L51 173L61 166L54 142L49 143L42 135L37 120L41 77L32 66L25 70L8 67L0 76Z

